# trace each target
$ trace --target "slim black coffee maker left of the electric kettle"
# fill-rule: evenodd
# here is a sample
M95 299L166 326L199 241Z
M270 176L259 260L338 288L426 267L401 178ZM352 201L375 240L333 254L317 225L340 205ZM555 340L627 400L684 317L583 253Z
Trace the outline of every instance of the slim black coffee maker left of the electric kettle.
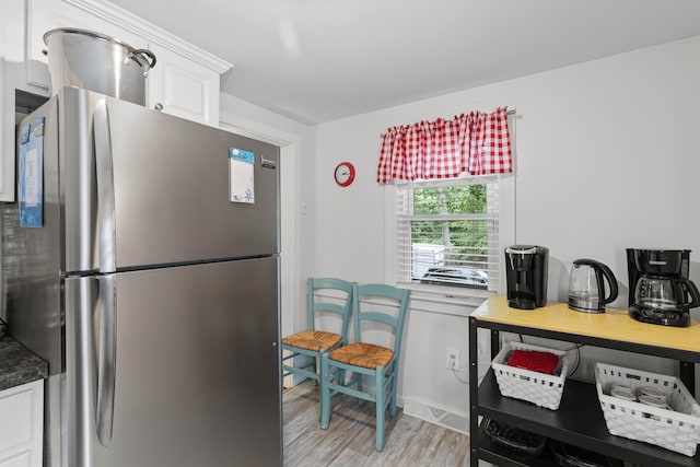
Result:
M512 245L505 248L508 306L535 310L547 304L549 248Z

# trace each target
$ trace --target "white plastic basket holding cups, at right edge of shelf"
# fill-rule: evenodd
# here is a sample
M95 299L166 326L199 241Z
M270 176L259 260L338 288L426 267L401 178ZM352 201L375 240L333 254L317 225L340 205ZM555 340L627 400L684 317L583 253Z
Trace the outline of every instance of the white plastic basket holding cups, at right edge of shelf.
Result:
M595 385L610 434L695 456L700 443L700 406L678 377L596 363ZM634 396L643 387L661 389L673 410L610 396L614 385L628 386Z

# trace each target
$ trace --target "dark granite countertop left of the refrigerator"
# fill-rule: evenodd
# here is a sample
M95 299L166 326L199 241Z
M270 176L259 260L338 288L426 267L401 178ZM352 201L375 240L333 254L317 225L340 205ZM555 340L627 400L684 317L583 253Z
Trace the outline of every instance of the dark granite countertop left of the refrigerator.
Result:
M0 338L0 390L46 376L47 362L10 336Z

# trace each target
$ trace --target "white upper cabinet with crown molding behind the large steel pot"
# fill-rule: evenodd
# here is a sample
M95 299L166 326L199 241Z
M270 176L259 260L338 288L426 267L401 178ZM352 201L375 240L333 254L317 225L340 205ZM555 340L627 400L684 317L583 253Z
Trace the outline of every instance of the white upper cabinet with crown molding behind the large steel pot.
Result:
M4 1L4 0L3 0ZM79 27L106 34L155 54L147 81L147 106L207 125L219 125L220 75L231 68L106 0L26 0L26 67L30 84L49 86L44 34Z

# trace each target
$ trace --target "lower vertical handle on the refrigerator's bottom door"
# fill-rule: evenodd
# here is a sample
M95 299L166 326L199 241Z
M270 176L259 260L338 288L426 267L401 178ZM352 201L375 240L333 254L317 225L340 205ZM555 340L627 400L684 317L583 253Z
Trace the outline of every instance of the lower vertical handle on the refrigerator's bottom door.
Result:
M100 281L100 347L97 357L97 398L95 429L103 446L112 441L114 393L117 357L117 277L101 276Z

